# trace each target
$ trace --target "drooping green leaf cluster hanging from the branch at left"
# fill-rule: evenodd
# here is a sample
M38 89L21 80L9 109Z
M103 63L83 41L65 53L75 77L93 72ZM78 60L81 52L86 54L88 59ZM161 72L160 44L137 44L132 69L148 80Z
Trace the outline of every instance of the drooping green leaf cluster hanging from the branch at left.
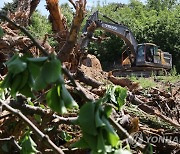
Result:
M35 91L54 84L46 96L47 105L52 110L63 114L67 112L66 108L78 107L65 88L61 76L61 63L53 55L49 58L29 58L16 54L6 62L6 65L8 74L1 83L1 88L10 88L13 97L21 93L26 97L35 98Z

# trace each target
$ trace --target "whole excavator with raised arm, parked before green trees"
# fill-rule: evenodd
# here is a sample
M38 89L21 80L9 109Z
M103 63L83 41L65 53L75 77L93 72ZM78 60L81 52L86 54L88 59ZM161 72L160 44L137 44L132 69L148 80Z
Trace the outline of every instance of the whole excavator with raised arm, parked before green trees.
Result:
M104 22L99 19L99 15L110 22ZM82 30L81 51L85 52L92 40L97 40L93 36L96 29L102 29L106 32L120 37L125 44L121 55L121 65L112 70L114 76L150 76L152 73L160 75L167 73L172 68L172 55L163 52L153 43L138 44L131 30L112 20L99 11L94 12L86 21Z

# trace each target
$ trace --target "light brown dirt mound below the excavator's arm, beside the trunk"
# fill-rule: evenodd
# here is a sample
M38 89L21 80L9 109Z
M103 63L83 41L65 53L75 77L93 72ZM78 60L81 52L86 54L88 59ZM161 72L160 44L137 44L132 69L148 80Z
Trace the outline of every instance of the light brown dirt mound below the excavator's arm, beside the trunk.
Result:
M107 73L102 70L100 61L94 55L87 55L87 58L82 61L81 70L96 80L107 78Z

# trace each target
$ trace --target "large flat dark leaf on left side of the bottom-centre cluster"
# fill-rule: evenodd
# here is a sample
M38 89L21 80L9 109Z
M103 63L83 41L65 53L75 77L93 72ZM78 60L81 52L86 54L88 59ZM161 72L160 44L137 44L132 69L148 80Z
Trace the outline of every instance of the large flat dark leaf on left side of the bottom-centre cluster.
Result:
M82 130L91 135L97 135L95 124L95 104L92 102L84 104L79 113L79 124Z

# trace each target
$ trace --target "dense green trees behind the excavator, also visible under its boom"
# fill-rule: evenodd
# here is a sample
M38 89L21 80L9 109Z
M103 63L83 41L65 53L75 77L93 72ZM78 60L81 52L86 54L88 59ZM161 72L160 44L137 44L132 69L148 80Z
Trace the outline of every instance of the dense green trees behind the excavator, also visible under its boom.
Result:
M128 5L108 4L98 6L98 10L111 19L126 25L134 34L138 43L155 43L163 51L170 52L173 64L180 71L180 6L177 1L148 0L146 4L131 0ZM101 17L100 17L101 18ZM104 18L101 18L104 21ZM108 21L110 22L110 21ZM101 44L91 43L90 52L99 56L101 62L116 61L123 52L123 42L116 36ZM99 30L95 36L100 36Z

